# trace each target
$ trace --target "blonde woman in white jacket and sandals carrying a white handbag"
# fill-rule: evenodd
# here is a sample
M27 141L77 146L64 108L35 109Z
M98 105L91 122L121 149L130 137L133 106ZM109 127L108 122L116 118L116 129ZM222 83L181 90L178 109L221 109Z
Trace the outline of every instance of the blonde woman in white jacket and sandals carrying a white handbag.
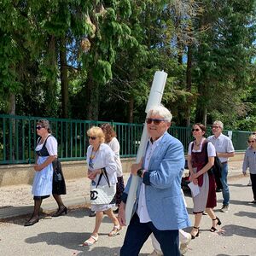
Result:
M98 183L100 186L110 185L116 186L117 175L116 175L116 162L114 160L114 153L112 149L105 144L105 136L100 127L93 126L87 131L89 137L90 146L87 149L86 161L88 165L88 177L91 180L91 185L96 186ZM106 178L106 173L103 173L103 168L108 175L108 181ZM102 174L102 175L101 175ZM97 204L91 206L91 211L96 212L96 223L95 228L90 235L90 238L84 241L83 246L91 246L96 241L98 241L98 232L100 225L102 224L103 212L105 212L108 217L113 222L113 230L110 231L108 236L116 236L121 230L118 219L114 216L112 208L115 206L114 203L114 194L113 194L113 203L112 201L109 204Z

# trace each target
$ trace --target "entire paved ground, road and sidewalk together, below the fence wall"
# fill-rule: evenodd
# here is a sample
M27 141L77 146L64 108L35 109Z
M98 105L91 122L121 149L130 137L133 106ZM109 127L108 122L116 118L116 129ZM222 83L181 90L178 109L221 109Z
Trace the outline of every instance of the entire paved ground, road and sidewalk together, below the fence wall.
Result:
M125 173L125 179L128 174ZM251 187L247 186L248 177L241 176L241 163L230 162L230 211L219 212L222 206L222 194L218 193L218 206L215 212L222 225L218 232L209 231L212 221L203 216L200 236L190 241L189 251L185 255L196 256L254 256L256 255L256 205ZM72 189L73 188L73 189ZM21 190L20 190L21 189ZM108 237L113 224L107 216L103 218L99 241L92 247L81 247L81 243L89 238L94 228L95 218L90 218L87 181L84 179L67 181L68 195L63 201L68 206L67 215L50 218L49 213L55 210L55 201L47 199L42 207L44 214L31 227L24 227L25 218L32 212L30 186L10 186L0 189L0 255L119 255L125 237L125 229L120 235ZM27 195L26 195L27 194ZM12 201L8 201L11 195ZM3 196L5 199L3 200ZM193 223L192 199L189 190L185 190L189 217ZM3 204L4 201L4 204ZM26 202L28 204L26 204ZM48 214L47 214L48 213ZM191 228L188 228L189 231ZM148 240L140 255L148 255L153 247Z

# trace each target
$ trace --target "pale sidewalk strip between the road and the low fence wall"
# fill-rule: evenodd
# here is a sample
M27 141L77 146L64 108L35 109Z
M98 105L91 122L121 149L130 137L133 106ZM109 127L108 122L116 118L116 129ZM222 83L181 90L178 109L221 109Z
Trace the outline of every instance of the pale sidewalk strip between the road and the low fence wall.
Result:
M230 161L229 180L241 177L241 161ZM125 183L129 173L124 173ZM249 180L249 176L248 176ZM86 177L66 180L67 195L62 195L62 200L68 208L88 207L90 205L90 180ZM33 200L31 194L32 186L6 186L0 188L0 221L31 214L33 211ZM42 203L43 212L54 212L57 205L52 196L45 199Z

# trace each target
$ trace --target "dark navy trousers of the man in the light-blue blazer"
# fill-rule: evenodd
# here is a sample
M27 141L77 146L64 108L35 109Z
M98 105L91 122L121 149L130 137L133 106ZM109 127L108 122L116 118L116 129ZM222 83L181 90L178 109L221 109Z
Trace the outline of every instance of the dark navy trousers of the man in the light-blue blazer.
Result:
M152 222L140 223L137 213L127 228L120 256L137 256L152 232L165 256L180 256L178 230L157 230Z

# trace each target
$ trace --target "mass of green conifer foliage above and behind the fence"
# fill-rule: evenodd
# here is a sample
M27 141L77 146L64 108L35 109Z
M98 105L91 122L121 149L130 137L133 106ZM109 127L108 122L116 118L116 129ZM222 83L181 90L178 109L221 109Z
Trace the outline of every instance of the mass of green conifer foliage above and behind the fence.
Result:
M162 102L177 125L206 113L208 124L255 130L253 0L3 0L0 12L1 113L15 94L17 113L59 116L68 94L71 118L142 122L165 70Z

